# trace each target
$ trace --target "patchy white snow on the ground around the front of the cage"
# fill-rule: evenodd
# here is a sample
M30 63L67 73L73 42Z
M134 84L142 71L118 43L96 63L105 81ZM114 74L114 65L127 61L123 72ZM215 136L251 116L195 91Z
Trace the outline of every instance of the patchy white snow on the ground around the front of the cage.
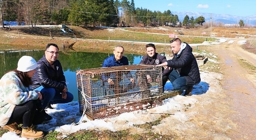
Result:
M204 98L201 97L202 94L208 94L208 92L212 93L220 90L219 80L222 78L221 74L202 70L200 72L200 76L201 82L194 86L192 96L185 97L177 95L163 100L162 106L157 106L147 110L136 110L133 112L123 113L113 118L89 120L84 116L82 118L82 123L76 124L81 118L78 101L67 104L54 104L54 109L47 109L47 113L50 114L53 119L47 124L38 125L38 129L46 132L56 130L57 132L62 132L63 137L65 137L66 134L70 134L78 130L92 129L118 131L132 128L139 133L142 131L140 130L141 128L136 128L134 124L144 124L146 122L155 121L162 113L174 115L162 120L166 121L165 123L153 126L152 129L154 132L159 134L168 134L173 130L191 129L192 126L189 126L185 122L187 122L191 116L195 116L199 112L188 113L182 110L186 110L186 108L193 108L198 100L201 100L200 98ZM169 90L172 90L170 82L166 83L165 86L165 91ZM168 124L170 120L172 121L172 124L175 125L172 128L166 127L166 125L170 126L170 123ZM0 140L10 139L26 140L26 138L19 138L18 135L12 132L7 132L2 135L2 138L0 138Z

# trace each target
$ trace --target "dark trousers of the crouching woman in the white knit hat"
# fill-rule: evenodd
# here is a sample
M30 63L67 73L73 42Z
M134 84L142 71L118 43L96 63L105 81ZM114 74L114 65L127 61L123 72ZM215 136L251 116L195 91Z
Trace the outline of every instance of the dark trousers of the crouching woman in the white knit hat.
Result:
M40 100L30 100L23 104L16 105L12 112L12 116L6 125L16 122L17 124L23 124L22 127L28 128L32 124L41 124L44 118L38 111L40 108L42 108Z

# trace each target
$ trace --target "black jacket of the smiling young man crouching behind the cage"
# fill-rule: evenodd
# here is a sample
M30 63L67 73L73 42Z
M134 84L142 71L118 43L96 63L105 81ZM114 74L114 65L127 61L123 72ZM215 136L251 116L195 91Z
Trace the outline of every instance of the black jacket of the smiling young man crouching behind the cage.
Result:
M166 57L165 56L161 56L158 53L155 53L155 55L151 58L147 55L144 55L140 61L140 64L148 64L148 65L158 65L158 64L162 64L164 62L166 62ZM169 75L170 74L170 70L169 68L166 68L164 70L164 67L162 68L162 75Z

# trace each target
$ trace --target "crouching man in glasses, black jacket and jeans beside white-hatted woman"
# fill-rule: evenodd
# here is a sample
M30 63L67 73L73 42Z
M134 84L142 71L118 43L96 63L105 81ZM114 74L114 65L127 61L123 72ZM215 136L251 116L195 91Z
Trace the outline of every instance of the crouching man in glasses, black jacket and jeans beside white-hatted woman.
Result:
M51 104L68 103L74 98L73 94L68 92L62 66L57 60L58 56L58 46L48 44L44 56L37 62L36 72L32 78L32 88L42 92L43 108L51 108Z

